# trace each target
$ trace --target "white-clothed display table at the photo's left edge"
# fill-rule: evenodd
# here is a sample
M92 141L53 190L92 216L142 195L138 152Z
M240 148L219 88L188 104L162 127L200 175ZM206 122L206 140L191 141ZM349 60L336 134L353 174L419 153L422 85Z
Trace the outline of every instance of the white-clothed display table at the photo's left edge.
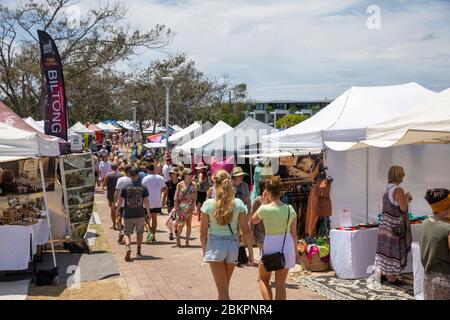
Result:
M0 226L0 270L27 270L37 246L45 245L49 238L47 220L39 219L31 226Z

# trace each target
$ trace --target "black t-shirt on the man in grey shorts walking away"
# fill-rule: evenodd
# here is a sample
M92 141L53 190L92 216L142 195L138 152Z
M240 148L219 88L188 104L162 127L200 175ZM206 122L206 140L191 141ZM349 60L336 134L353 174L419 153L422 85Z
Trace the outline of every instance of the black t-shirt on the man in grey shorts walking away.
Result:
M125 219L145 217L144 199L148 197L148 190L139 180L123 188L120 196L125 199L123 213Z

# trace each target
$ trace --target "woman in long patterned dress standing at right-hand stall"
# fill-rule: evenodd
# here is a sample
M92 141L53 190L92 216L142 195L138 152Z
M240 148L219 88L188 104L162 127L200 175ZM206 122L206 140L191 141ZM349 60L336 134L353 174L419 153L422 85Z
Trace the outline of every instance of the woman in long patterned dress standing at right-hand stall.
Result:
M383 212L378 228L375 270L389 284L400 284L397 276L406 268L411 251L411 224L408 206L411 194L405 193L400 184L405 170L399 166L389 169L388 185L383 195Z

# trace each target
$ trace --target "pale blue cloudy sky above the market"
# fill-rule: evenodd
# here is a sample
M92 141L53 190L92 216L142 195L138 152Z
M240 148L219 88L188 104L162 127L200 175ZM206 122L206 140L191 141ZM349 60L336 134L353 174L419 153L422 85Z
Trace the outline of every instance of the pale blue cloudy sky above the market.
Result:
M123 2L132 26L165 24L176 36L120 69L185 52L207 75L247 83L254 99L335 98L352 85L409 81L435 91L450 87L450 1ZM83 12L96 3L79 5ZM379 30L367 28L371 5L380 8Z

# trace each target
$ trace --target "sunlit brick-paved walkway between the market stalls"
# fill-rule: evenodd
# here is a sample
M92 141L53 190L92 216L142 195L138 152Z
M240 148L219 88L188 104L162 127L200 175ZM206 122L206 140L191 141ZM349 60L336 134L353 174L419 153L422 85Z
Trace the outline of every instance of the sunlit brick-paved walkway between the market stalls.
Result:
M111 229L109 207L106 195L95 195L96 210L104 226L106 240L115 257L121 277L128 286L131 299L214 300L217 291L209 266L202 265L202 251L199 240L199 224L194 223L191 247L178 248L175 241L169 241L164 225L167 215L158 219L156 244L143 245L142 258L135 258L136 245L132 245L133 262L125 262L125 247L117 243L118 231ZM194 217L196 221L197 218ZM135 241L133 236L132 241ZM182 242L184 244L184 242ZM236 300L260 300L258 269L236 268L231 280L230 295ZM288 281L288 299L325 299L294 281Z

